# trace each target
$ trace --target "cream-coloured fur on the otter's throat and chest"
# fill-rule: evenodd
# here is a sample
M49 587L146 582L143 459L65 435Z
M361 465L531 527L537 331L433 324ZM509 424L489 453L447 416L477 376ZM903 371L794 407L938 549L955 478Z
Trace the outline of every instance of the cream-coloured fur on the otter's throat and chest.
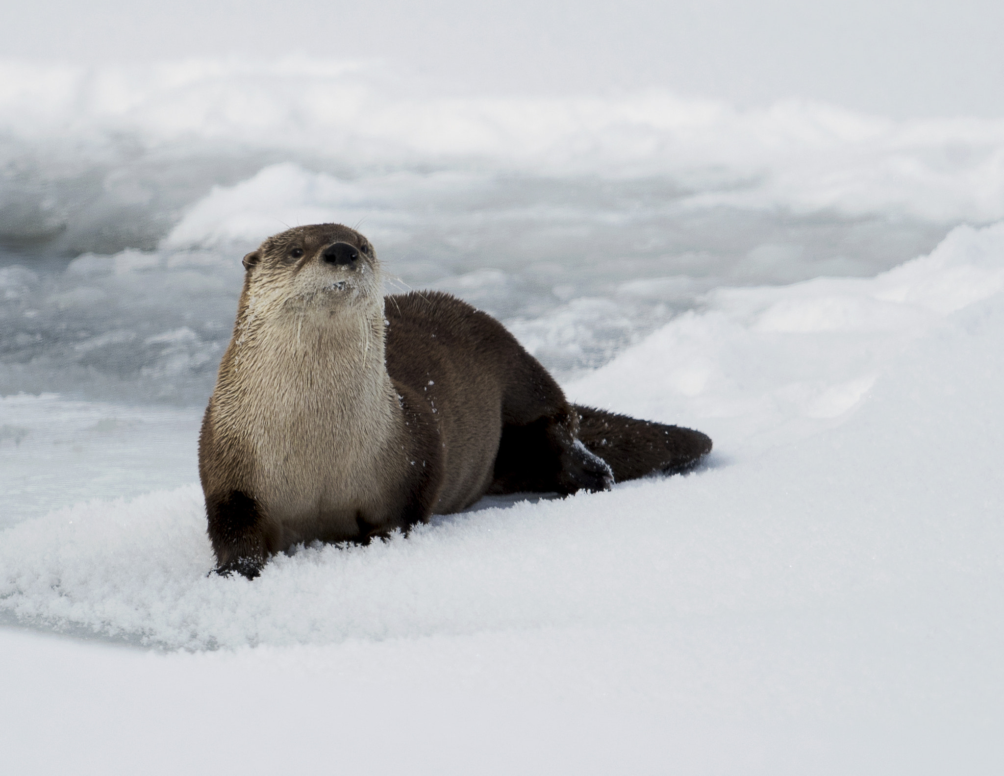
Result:
M381 522L403 455L383 315L291 320L235 337L216 428L250 453L254 497L290 539L352 535L357 515Z

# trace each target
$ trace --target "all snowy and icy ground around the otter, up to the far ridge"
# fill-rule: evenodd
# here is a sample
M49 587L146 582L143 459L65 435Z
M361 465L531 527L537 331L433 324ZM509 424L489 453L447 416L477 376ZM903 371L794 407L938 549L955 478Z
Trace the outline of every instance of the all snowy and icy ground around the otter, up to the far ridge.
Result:
M1004 767L999 122L18 66L4 772ZM240 256L332 218L707 465L207 576Z

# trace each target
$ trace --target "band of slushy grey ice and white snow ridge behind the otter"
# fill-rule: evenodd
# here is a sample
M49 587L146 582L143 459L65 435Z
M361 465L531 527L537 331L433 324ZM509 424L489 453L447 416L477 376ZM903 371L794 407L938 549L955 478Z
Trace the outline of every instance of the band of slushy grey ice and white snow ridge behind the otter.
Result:
M0 69L5 394L201 404L239 257L288 225L359 225L398 288L570 375L715 286L870 276L1004 217L992 119L446 97L306 60Z

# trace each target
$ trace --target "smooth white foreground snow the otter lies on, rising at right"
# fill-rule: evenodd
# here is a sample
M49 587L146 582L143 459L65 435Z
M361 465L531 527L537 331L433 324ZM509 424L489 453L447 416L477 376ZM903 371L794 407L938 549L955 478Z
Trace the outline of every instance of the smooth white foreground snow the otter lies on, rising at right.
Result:
M39 773L78 751L81 772L996 772L1002 284L1004 225L872 279L718 289L566 386L708 431L703 469L302 548L254 582L207 576L196 485L24 520L9 617L158 650L0 631L6 751Z

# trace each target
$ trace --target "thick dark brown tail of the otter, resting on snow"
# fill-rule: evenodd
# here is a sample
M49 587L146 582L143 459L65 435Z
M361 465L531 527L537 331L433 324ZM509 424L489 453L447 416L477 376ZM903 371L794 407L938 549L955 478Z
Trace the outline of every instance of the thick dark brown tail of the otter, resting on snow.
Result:
M575 405L578 438L613 470L616 482L653 472L676 474L693 468L711 452L711 439L699 431L639 421Z

